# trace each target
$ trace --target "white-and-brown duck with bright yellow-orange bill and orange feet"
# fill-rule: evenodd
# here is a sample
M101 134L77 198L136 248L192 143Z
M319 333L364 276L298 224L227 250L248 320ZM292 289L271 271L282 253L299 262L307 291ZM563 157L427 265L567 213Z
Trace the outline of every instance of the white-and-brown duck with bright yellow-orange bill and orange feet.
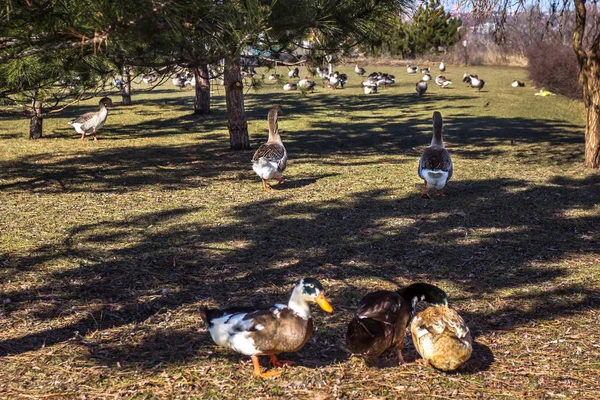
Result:
M259 356L269 356L274 367L293 364L279 360L279 353L300 350L312 336L314 324L310 304L315 302L325 312L333 308L325 298L323 285L314 278L302 278L292 290L287 305L275 304L266 309L200 309L200 318L208 327L212 340L250 356L253 375L275 378L281 371L262 371Z

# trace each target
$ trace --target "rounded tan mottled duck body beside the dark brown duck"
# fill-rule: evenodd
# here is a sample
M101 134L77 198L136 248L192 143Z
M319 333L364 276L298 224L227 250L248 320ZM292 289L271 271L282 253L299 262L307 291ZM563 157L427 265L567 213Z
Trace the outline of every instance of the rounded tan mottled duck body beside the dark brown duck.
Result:
M473 353L471 332L462 317L447 304L418 313L410 325L417 352L434 368L453 371Z

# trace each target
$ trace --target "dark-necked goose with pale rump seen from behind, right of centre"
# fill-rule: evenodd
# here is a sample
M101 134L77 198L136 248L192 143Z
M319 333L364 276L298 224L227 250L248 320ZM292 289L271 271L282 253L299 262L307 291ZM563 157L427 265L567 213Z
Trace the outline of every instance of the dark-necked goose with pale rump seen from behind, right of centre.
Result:
M425 149L419 161L419 177L423 179L423 198L431 198L427 193L428 188L435 187L442 190L452 178L452 158L444 147L442 138L442 114L433 113L433 139L431 145ZM440 192L440 194L442 194Z

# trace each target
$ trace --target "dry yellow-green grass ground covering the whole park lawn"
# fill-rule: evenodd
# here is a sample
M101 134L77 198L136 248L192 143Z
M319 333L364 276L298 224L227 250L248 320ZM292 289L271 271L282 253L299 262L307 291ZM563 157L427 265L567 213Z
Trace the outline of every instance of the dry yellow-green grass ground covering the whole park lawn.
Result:
M336 92L248 93L253 145L268 107L285 113L290 182L271 193L252 151L228 150L222 89L210 118L190 115L189 91L135 93L97 143L66 124L92 101L36 142L0 115L1 397L596 397L600 176L581 167L581 104L511 88L522 69L470 69L487 82L477 93L451 65L453 88L422 98L403 66L377 69L398 84L375 96L350 68ZM434 110L455 176L426 201L416 169ZM314 310L295 367L253 379L198 307L283 302L303 276L334 312ZM394 355L367 367L344 349L362 295L414 281L444 288L471 327L463 370Z

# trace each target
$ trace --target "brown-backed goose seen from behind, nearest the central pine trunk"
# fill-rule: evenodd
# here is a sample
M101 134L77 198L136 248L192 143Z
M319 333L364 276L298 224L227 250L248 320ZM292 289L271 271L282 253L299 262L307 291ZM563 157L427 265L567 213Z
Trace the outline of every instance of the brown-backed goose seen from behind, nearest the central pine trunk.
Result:
M262 144L252 157L252 169L262 179L266 191L271 190L267 183L269 179L277 179L280 184L285 182L282 174L287 166L287 152L279 136L277 119L280 115L283 115L281 106L273 105L268 115L269 140Z

